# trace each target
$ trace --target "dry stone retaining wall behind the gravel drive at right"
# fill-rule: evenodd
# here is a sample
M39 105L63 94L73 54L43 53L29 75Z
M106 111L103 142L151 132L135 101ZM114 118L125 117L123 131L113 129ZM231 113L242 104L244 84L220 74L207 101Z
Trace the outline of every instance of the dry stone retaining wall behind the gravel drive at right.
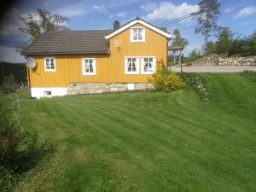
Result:
M256 56L227 57L209 56L204 61L192 61L191 66L256 66Z

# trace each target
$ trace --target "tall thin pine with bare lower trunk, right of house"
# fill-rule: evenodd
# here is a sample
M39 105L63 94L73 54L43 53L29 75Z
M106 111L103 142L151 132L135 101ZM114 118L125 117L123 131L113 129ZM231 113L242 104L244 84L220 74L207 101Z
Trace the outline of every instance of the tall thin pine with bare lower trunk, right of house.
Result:
M201 0L198 4L200 10L194 15L197 16L198 26L195 27L195 33L201 33L205 36L205 51L207 54L207 44L212 32L217 32L219 6L218 0Z

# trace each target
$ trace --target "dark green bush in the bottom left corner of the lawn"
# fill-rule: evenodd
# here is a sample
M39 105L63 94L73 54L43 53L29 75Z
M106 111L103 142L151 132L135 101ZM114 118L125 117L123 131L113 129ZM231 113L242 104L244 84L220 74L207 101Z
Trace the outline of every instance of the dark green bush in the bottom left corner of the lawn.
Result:
M11 191L19 175L35 166L52 146L40 142L36 131L23 131L6 115L0 116L0 191Z

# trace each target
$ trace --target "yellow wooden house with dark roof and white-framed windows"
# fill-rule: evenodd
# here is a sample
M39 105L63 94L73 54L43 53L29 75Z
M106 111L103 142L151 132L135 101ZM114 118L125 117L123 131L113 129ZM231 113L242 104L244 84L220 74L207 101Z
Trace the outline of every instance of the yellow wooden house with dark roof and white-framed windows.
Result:
M136 18L113 30L45 32L21 52L32 97L150 88L171 35ZM31 62L34 62L31 65Z

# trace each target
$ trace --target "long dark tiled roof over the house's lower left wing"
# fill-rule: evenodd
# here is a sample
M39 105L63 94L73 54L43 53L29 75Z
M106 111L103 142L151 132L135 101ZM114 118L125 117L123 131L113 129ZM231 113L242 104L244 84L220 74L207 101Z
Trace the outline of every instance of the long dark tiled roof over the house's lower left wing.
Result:
M113 30L45 32L21 51L21 55L108 54Z

